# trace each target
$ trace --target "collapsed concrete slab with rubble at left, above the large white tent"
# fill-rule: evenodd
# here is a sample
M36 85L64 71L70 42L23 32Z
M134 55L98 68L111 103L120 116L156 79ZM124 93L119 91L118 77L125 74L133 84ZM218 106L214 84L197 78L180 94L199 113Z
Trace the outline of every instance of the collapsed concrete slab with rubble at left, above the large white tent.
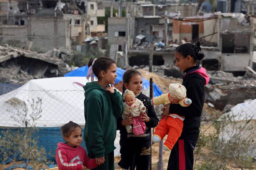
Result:
M71 71L66 64L71 52L65 48L46 53L0 46L0 82L25 84L31 79L59 77Z

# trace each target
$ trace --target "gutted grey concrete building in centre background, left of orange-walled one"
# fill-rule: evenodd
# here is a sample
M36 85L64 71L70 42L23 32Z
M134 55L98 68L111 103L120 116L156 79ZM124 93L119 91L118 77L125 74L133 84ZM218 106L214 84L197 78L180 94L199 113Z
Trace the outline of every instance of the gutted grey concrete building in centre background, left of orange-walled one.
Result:
M182 17L194 16L196 15L196 8L197 4L131 3L131 12L126 18L109 18L108 26L113 28L108 32L109 44L117 44L118 50L122 51L125 51L125 44L127 44L126 55L129 58L129 65L148 65L151 42L166 41L166 36L172 39L172 20L161 16L165 14ZM139 45L137 45L138 43ZM153 65L173 65L174 58L170 57L170 51L163 51L161 43L159 46L160 48L154 50ZM140 60L137 60L137 57L140 57Z

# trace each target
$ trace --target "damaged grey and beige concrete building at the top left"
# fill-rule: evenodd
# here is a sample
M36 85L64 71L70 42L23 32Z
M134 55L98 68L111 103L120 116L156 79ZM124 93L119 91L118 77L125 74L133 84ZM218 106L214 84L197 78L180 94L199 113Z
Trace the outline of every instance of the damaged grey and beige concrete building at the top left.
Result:
M23 48L30 44L33 51L53 48L71 49L82 44L86 36L105 31L97 23L105 16L97 2L82 0L0 0L0 43Z

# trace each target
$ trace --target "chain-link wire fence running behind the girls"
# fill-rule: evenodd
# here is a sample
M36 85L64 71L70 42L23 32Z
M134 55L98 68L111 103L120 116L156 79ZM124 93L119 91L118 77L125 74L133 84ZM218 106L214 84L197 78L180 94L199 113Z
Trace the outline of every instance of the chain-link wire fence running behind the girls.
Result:
M221 87L221 86L218 86ZM148 89L147 89L148 90ZM47 159L51 163L55 162L55 150L58 142L64 142L60 127L73 121L84 127L84 90L20 90L11 88L8 93L0 96L0 137L4 136L4 132L7 130L13 134L17 129L23 129L26 126L35 125L38 131L33 134L35 137L39 137L38 146L43 147L47 153ZM5 90L5 92L7 92ZM246 153L252 157L256 156L256 91L254 88L246 87L239 89L221 89L221 88L207 88L205 91L205 104L202 113L202 134L205 132L214 131L213 128L209 128L214 124L213 119L216 119L215 113L221 113L225 115L229 113L233 115L232 122L236 122L237 126L243 127L240 130L240 134L244 138L252 138L250 143L250 153ZM148 94L148 91L144 91ZM156 112L160 119L161 107L157 106ZM41 111L41 112L39 112ZM40 116L39 116L40 115ZM37 119L33 118L35 116ZM226 120L225 120L226 121ZM228 121L227 121L228 122ZM229 122L228 122L229 123ZM251 129L244 128L242 124L250 124ZM207 128L208 129L207 129ZM226 124L226 130L222 135L222 139L229 140L234 134L234 126ZM154 131L154 130L153 130ZM252 133L251 133L252 132ZM221 138L221 137L219 137ZM115 140L115 163L120 160L120 145L119 145L119 131ZM164 139L165 140L165 139ZM164 142L164 141L163 141ZM200 149L200 142L196 147ZM24 144L25 145L25 144ZM85 143L81 144L83 147ZM228 145L228 144L225 144ZM0 145L0 148L4 146ZM161 151L159 154L159 143L152 144L152 169L166 169L170 152ZM246 150L246 151L247 151ZM200 155L203 151L199 152L199 159L204 160ZM12 155L19 159L18 155ZM197 155L198 156L198 155ZM198 158L198 157L196 157ZM12 162L14 159L5 159L4 154L0 153L1 164ZM159 162L160 160L160 162ZM162 163L161 163L162 162ZM163 165L161 165L163 164ZM116 169L119 167L116 166Z

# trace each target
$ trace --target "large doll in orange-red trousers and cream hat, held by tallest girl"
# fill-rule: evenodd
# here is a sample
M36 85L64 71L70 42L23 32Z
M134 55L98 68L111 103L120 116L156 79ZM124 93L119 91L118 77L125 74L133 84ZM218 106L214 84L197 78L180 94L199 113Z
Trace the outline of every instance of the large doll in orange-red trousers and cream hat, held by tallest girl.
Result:
M171 83L169 85L169 93L155 97L151 102L154 105L180 104L183 107L187 107L192 101L186 97L186 92L187 90L183 85L179 83ZM181 136L184 119L184 116L173 113L160 120L152 141L158 143L168 135L165 143L163 143L163 150L170 151Z

